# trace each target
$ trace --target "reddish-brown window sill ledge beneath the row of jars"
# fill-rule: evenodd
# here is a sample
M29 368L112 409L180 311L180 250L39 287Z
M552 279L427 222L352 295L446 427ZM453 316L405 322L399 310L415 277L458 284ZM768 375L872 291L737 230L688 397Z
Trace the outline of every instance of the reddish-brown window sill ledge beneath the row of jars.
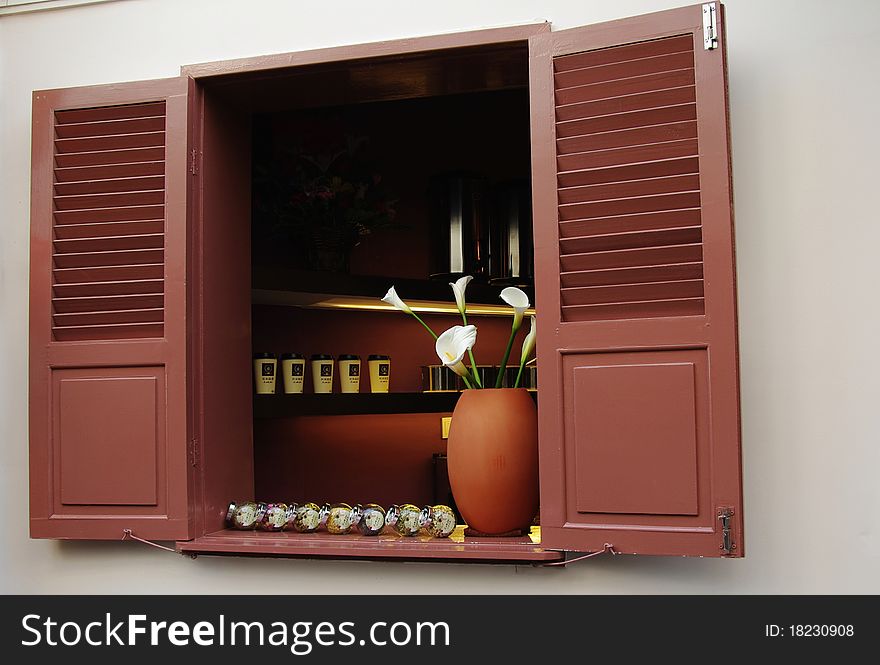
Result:
M516 538L493 536L465 537L459 527L450 538L396 534L334 536L319 531L311 534L283 531L223 530L195 540L177 543L185 554L269 555L278 557L343 559L410 559L435 561L474 561L482 563L540 563L560 561L564 554L540 545L540 529L533 535ZM537 534L537 536L536 536ZM537 540L537 542L535 542Z

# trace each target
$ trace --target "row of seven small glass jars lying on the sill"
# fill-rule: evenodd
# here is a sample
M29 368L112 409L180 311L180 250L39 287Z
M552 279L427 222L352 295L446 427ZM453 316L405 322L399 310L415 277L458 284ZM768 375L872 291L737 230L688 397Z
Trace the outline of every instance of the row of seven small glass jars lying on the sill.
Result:
M249 501L229 504L226 522L233 529L249 531L294 530L313 533L324 527L328 533L345 535L357 529L365 536L378 536L386 526L401 536L415 536L424 531L434 538L447 538L455 530L455 513L449 506L425 506L411 503L391 506L386 512L375 503L262 503Z

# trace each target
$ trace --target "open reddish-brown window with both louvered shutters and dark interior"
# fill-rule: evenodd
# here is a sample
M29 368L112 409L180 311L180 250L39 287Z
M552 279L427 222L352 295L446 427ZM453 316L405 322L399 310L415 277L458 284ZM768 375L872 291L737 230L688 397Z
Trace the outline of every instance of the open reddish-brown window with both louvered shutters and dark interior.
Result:
M32 534L131 529L183 552L279 556L741 555L721 18L709 50L698 6L194 66L189 94L185 77L37 93ZM286 205L271 192L291 154L319 162L350 139L398 214L328 271L266 211ZM446 498L436 456L458 393L423 391L431 340L375 306L395 284L435 329L458 322L437 306L451 300L438 275L456 272L434 220L451 180L532 199L515 269L466 260L484 271L468 301L487 361L509 330L500 285L534 279L540 527L442 541L228 530L232 500ZM257 352L390 355L391 392L364 376L359 394L315 395L307 376L305 394L254 395ZM159 528L170 515L180 528Z

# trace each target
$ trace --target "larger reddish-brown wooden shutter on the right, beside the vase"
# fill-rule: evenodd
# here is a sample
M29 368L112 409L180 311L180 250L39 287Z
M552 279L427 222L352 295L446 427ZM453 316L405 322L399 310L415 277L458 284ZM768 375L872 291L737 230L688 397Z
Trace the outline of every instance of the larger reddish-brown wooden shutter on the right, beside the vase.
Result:
M547 547L743 554L717 10L530 40Z

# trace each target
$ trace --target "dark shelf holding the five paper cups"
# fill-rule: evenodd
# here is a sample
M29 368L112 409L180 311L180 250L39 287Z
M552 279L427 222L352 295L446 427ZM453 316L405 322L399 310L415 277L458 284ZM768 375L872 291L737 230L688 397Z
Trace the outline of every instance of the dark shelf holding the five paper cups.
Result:
M461 393L330 393L254 395L254 418L365 413L445 413Z

